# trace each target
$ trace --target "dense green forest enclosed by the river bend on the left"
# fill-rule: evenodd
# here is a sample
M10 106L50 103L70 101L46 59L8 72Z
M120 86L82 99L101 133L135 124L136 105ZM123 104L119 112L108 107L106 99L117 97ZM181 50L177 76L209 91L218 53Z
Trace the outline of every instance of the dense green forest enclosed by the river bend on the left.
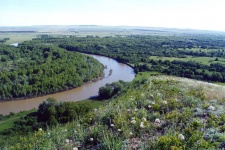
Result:
M0 45L0 100L36 97L97 80L103 65L56 46Z

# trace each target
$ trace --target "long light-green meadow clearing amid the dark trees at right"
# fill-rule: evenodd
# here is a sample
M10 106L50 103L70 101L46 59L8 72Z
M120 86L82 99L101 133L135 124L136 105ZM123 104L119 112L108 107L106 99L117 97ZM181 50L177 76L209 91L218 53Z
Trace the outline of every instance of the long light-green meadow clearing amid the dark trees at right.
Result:
M173 60L180 60L180 61L195 61L198 63L202 63L205 65L210 65L211 63L221 63L221 64L225 64L225 58L218 58L218 61L215 61L216 57L187 57L187 58L176 58L176 57L159 57L159 56L151 56L150 59L153 60L169 60L169 61L173 61Z

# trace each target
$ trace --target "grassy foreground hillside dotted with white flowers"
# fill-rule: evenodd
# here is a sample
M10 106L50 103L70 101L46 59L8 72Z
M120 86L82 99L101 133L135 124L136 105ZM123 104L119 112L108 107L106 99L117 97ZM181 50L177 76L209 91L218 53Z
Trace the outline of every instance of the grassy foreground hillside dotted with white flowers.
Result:
M222 149L225 87L141 76L105 106L22 136L9 149Z

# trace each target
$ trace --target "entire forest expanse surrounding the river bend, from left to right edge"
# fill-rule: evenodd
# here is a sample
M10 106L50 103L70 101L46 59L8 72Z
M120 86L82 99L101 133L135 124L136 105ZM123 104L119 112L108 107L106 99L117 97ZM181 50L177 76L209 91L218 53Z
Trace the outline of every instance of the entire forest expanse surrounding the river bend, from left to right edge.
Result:
M105 37L40 35L20 43L18 47L1 44L0 99L55 93L101 76L103 66L91 57L74 52L114 58L133 66L136 73L153 71L225 82L224 39L222 35L210 34ZM162 57L169 60L163 60ZM202 58L206 62L201 62Z

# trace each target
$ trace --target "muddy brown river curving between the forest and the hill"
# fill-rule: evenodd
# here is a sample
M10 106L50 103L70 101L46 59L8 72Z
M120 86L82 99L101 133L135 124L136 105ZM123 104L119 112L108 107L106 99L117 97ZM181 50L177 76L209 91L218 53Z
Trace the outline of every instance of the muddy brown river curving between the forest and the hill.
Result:
M89 56L94 57L104 66L107 66L107 68L104 70L105 77L102 80L89 82L75 89L46 96L17 101L0 102L0 114L9 114L10 112L19 112L37 108L39 104L42 103L42 101L49 97L53 97L58 101L81 101L97 96L99 87L104 86L106 83L112 83L119 80L132 81L135 77L134 70L126 64L118 63L116 60L104 56ZM109 76L110 69L112 69L112 74Z

